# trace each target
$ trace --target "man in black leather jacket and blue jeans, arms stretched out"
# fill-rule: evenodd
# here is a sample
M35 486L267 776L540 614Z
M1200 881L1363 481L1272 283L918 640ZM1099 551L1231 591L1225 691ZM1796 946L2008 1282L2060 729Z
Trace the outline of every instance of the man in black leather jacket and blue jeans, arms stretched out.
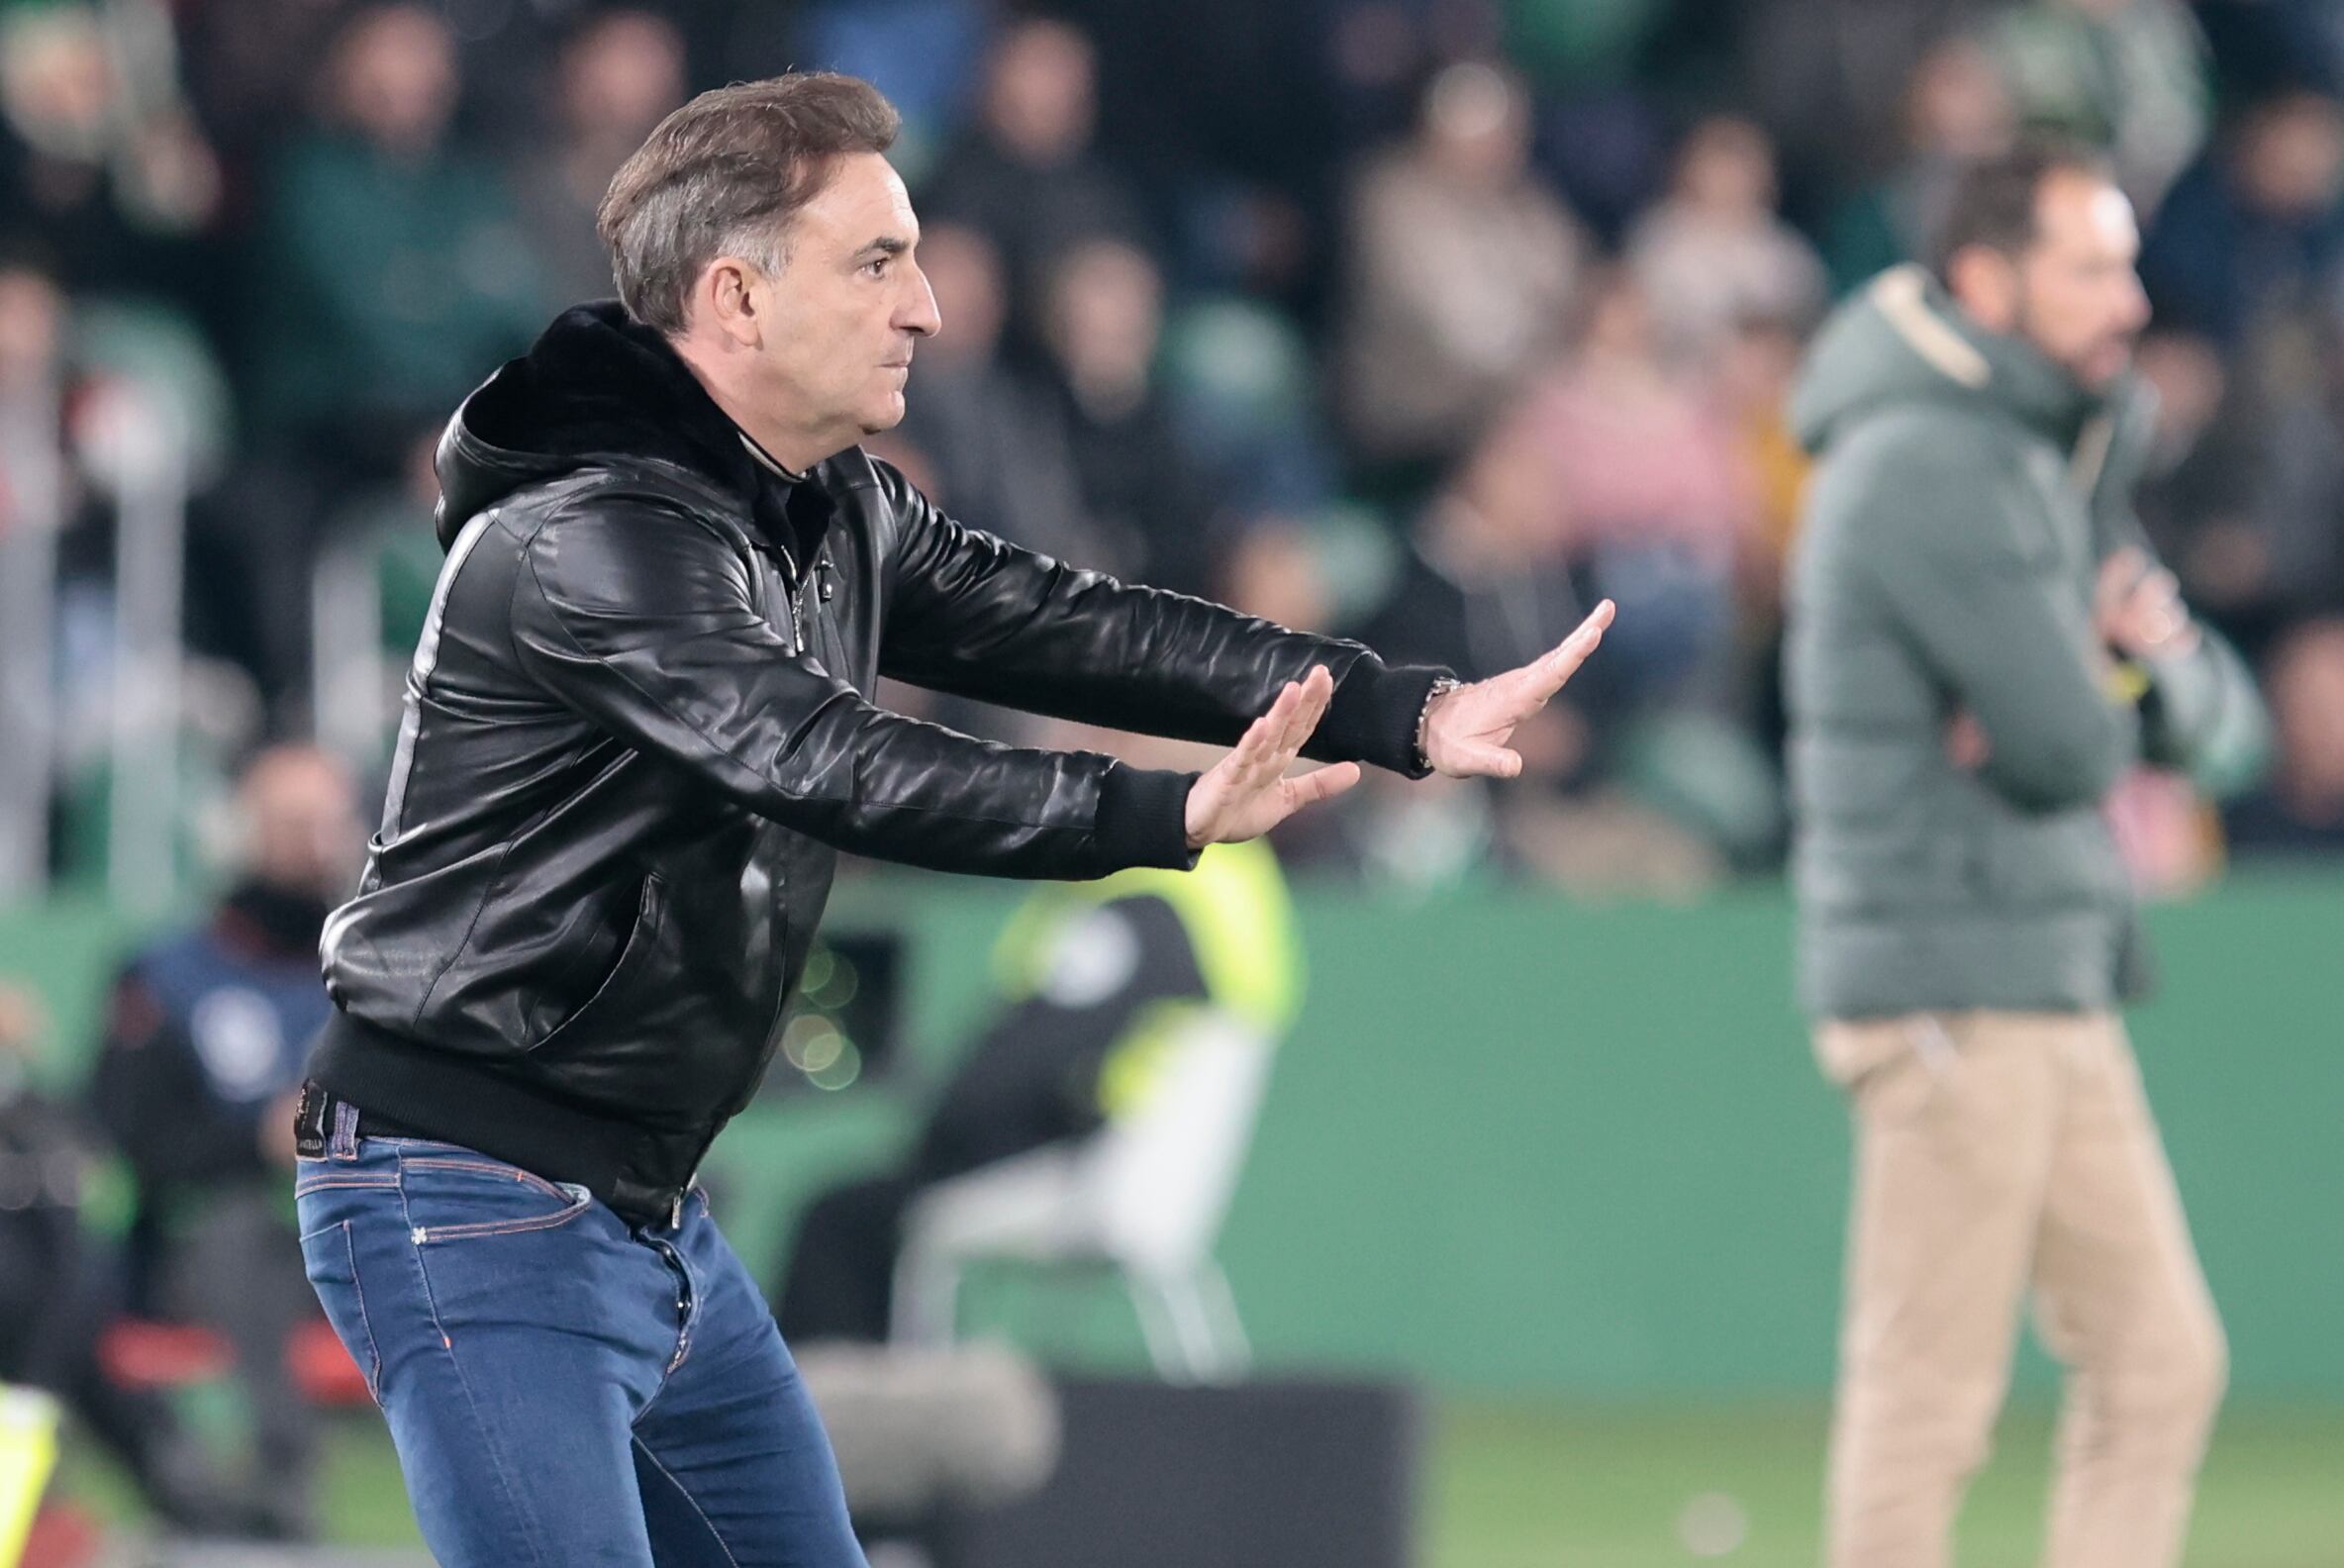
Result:
M938 513L856 445L940 326L893 134L834 75L670 115L600 211L624 305L563 314L441 443L448 565L326 926L298 1202L450 1568L860 1563L691 1186L837 851L1186 867L1362 762L1512 773L1608 619L1456 687ZM1235 750L1191 776L989 745L874 705L881 675ZM1289 778L1303 750L1331 766Z

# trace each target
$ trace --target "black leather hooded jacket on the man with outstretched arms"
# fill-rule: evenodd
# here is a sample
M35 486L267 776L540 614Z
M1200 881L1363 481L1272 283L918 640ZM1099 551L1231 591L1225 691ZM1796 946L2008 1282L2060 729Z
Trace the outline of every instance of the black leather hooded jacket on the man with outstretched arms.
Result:
M837 851L1191 860L1191 776L921 724L881 675L1226 743L1324 663L1313 755L1395 769L1437 675L1031 555L860 448L790 480L616 305L473 391L438 473L448 565L312 1076L631 1219L755 1092Z

